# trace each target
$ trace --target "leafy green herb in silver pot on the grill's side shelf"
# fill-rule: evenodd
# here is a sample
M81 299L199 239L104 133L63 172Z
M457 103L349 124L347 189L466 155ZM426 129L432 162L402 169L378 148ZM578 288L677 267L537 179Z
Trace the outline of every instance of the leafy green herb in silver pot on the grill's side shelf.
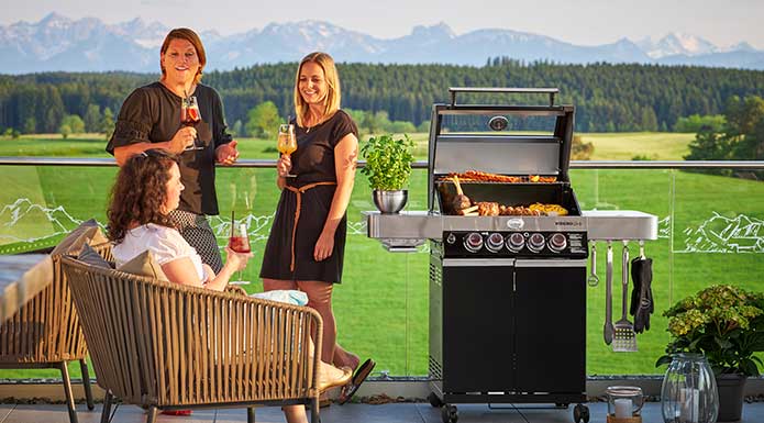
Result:
M366 159L361 172L368 177L374 203L383 213L398 213L406 205L408 190L403 188L411 176L412 151L413 141L406 134L402 138L373 136L361 147Z

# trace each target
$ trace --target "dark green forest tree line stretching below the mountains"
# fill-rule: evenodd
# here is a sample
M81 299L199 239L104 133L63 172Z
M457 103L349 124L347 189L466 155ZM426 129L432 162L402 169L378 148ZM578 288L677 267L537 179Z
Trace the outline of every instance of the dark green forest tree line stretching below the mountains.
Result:
M222 96L229 125L242 131L265 102L280 119L292 111L297 64L267 64L204 74ZM557 103L576 105L580 132L669 131L680 118L718 115L728 99L764 93L764 71L639 64L561 65L506 57L481 67L456 65L339 64L343 108L368 125L408 122L427 127L432 104L449 102L449 87L557 87ZM68 115L87 131L103 132L125 97L157 75L44 73L0 76L0 132L59 132ZM541 103L545 97L464 94L465 103ZM379 113L383 113L384 116ZM106 119L109 115L109 119ZM375 123L375 120L379 122ZM381 119L385 118L385 119ZM359 122L361 124L362 122ZM524 123L533 129L532 121ZM400 126L403 127L403 126ZM373 132L373 131L372 131Z

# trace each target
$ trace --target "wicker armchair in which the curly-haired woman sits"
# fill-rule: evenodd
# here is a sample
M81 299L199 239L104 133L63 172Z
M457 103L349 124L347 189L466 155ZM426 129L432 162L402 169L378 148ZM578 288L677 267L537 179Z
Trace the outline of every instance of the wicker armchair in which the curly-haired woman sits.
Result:
M307 404L319 422L322 322L307 307L185 287L64 258L96 379L114 397L158 410Z

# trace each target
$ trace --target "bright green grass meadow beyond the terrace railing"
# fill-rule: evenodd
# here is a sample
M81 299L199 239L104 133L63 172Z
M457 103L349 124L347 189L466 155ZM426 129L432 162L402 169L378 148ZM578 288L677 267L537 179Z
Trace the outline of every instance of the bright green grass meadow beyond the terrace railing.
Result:
M414 134L418 159L427 159L427 134ZM691 134L633 133L583 134L595 145L593 159L631 159L642 155L652 159L680 160ZM244 159L273 159L277 153L272 140L240 140ZM59 136L0 138L0 156L109 157L102 136ZM71 227L73 221L96 218L104 223L113 167L3 166L5 187L0 204L18 199L46 210L16 203L18 214L0 213L0 251L12 252L19 240L37 240L38 245L55 243L49 234ZM259 257L267 237L270 216L278 201L273 169L219 168L217 187L221 218L212 219L225 242L231 210L236 216L251 216L255 259L245 271L258 282ZM587 371L590 375L658 374L655 359L668 341L666 320L661 312L674 301L711 283L738 283L764 289L764 260L755 253L697 252L699 230L721 233L730 225L742 227L749 238L764 230L764 183L759 181L677 170L572 170L571 177L584 210L640 210L658 216L660 238L649 242L645 254L653 258L653 292L656 311L651 330L638 335L639 353L612 353L602 342L605 310L605 243L597 244L597 272L600 283L587 289ZM58 209L57 209L58 208ZM408 210L427 209L427 172L412 176ZM427 375L428 364L428 266L427 246L419 253L388 253L366 237L362 211L374 210L365 177L356 179L348 210L350 236L343 283L334 290L339 342L362 357L374 357L377 370L390 375ZM25 214L24 214L25 213ZM21 218L19 218L21 215ZM739 216L746 216L749 221ZM52 219L53 216L54 219ZM13 223L12 225L10 223ZM742 222L742 223L741 223ZM757 222L757 223L756 223ZM717 226L722 225L720 230ZM756 226L757 225L757 226ZM741 235L743 236L743 235ZM743 236L743 238L745 237ZM622 244L613 245L617 276L613 283L613 320L620 319L620 258ZM631 256L638 245L629 244ZM554 296L550 292L550 296ZM539 304L543 307L543 304ZM550 310L553 313L553 310ZM565 316L561 315L561 322ZM489 323L487 323L489 324ZM491 322L490 324L501 324ZM539 336L552 336L561 327L539 327ZM564 326L563 326L564 330ZM560 352L561 357L565 352ZM73 367L71 372L78 375ZM0 378L56 377L49 370L3 370Z

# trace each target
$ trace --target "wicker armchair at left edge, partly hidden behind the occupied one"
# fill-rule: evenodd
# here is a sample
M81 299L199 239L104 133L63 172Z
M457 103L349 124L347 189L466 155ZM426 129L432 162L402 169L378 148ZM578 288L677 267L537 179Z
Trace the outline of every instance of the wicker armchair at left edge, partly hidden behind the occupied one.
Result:
M93 246L103 258L111 259L111 244ZM62 256L51 256L53 281L11 319L0 324L0 368L55 368L62 372L69 422L77 423L68 361L79 360L88 409L93 409L90 377L85 357L88 349L62 270Z

